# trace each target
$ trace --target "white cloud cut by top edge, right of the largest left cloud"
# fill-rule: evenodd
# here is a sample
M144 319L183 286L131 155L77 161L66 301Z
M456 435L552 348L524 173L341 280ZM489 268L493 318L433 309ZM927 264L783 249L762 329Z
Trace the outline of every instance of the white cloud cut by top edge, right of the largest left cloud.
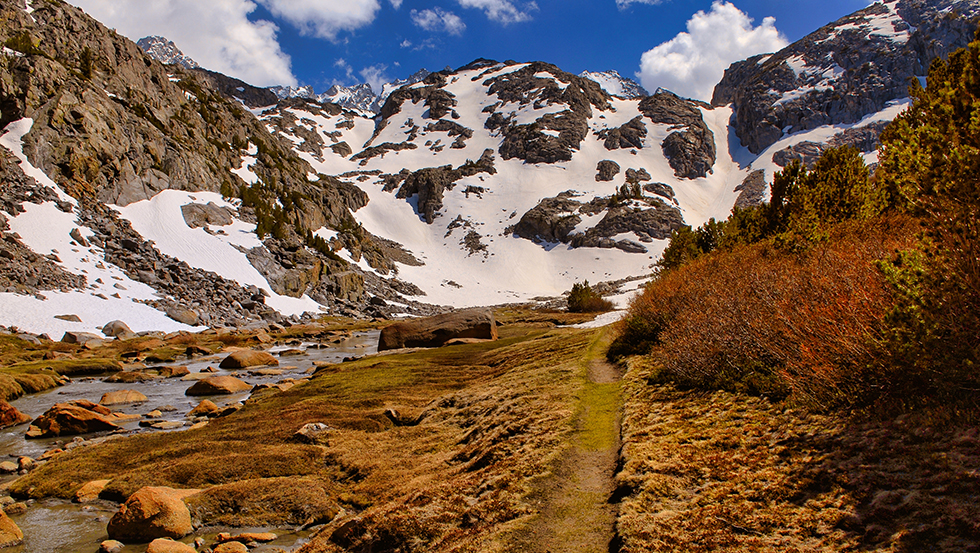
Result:
M399 0L399 4L401 2ZM258 0L276 17L304 35L335 40L341 31L370 24L381 9L378 0ZM394 4L394 3L393 3ZM396 6L397 7L397 6Z

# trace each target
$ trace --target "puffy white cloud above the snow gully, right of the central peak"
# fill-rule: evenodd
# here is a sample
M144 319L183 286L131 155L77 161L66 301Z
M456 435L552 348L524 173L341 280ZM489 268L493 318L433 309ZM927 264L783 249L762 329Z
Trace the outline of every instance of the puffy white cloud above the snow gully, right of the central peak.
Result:
M710 100L732 62L775 52L787 44L774 18L753 27L752 19L733 4L715 0L709 12L694 14L687 32L645 52L637 76L648 90L663 87L681 96Z

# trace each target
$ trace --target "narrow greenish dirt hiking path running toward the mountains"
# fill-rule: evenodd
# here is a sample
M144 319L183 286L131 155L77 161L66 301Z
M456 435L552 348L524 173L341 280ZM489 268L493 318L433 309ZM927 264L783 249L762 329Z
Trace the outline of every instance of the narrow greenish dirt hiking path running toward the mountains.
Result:
M608 553L616 535L618 508L610 498L619 461L622 375L605 360L611 334L597 334L582 361L575 432L542 490L531 551Z

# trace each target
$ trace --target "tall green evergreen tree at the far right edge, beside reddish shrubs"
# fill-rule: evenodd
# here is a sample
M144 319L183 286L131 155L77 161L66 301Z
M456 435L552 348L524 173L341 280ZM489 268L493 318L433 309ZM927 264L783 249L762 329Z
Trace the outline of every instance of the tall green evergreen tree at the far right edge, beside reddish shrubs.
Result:
M980 361L980 34L936 60L928 88L882 135L882 202L924 223L922 251L890 268L892 350L940 397L975 396ZM975 400L974 400L975 401Z

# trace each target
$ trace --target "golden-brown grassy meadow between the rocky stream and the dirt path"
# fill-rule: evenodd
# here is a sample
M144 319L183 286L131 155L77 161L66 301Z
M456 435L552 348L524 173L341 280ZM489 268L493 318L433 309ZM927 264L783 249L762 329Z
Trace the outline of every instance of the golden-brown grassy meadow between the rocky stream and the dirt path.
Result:
M10 491L70 497L101 478L114 499L151 484L207 488L191 500L204 524L340 512L304 552L500 549L502 532L533 513L532 482L567 448L595 331L515 322L501 336L334 366L198 430L76 448ZM395 426L389 407L416 424ZM308 422L332 427L321 445L292 441Z

